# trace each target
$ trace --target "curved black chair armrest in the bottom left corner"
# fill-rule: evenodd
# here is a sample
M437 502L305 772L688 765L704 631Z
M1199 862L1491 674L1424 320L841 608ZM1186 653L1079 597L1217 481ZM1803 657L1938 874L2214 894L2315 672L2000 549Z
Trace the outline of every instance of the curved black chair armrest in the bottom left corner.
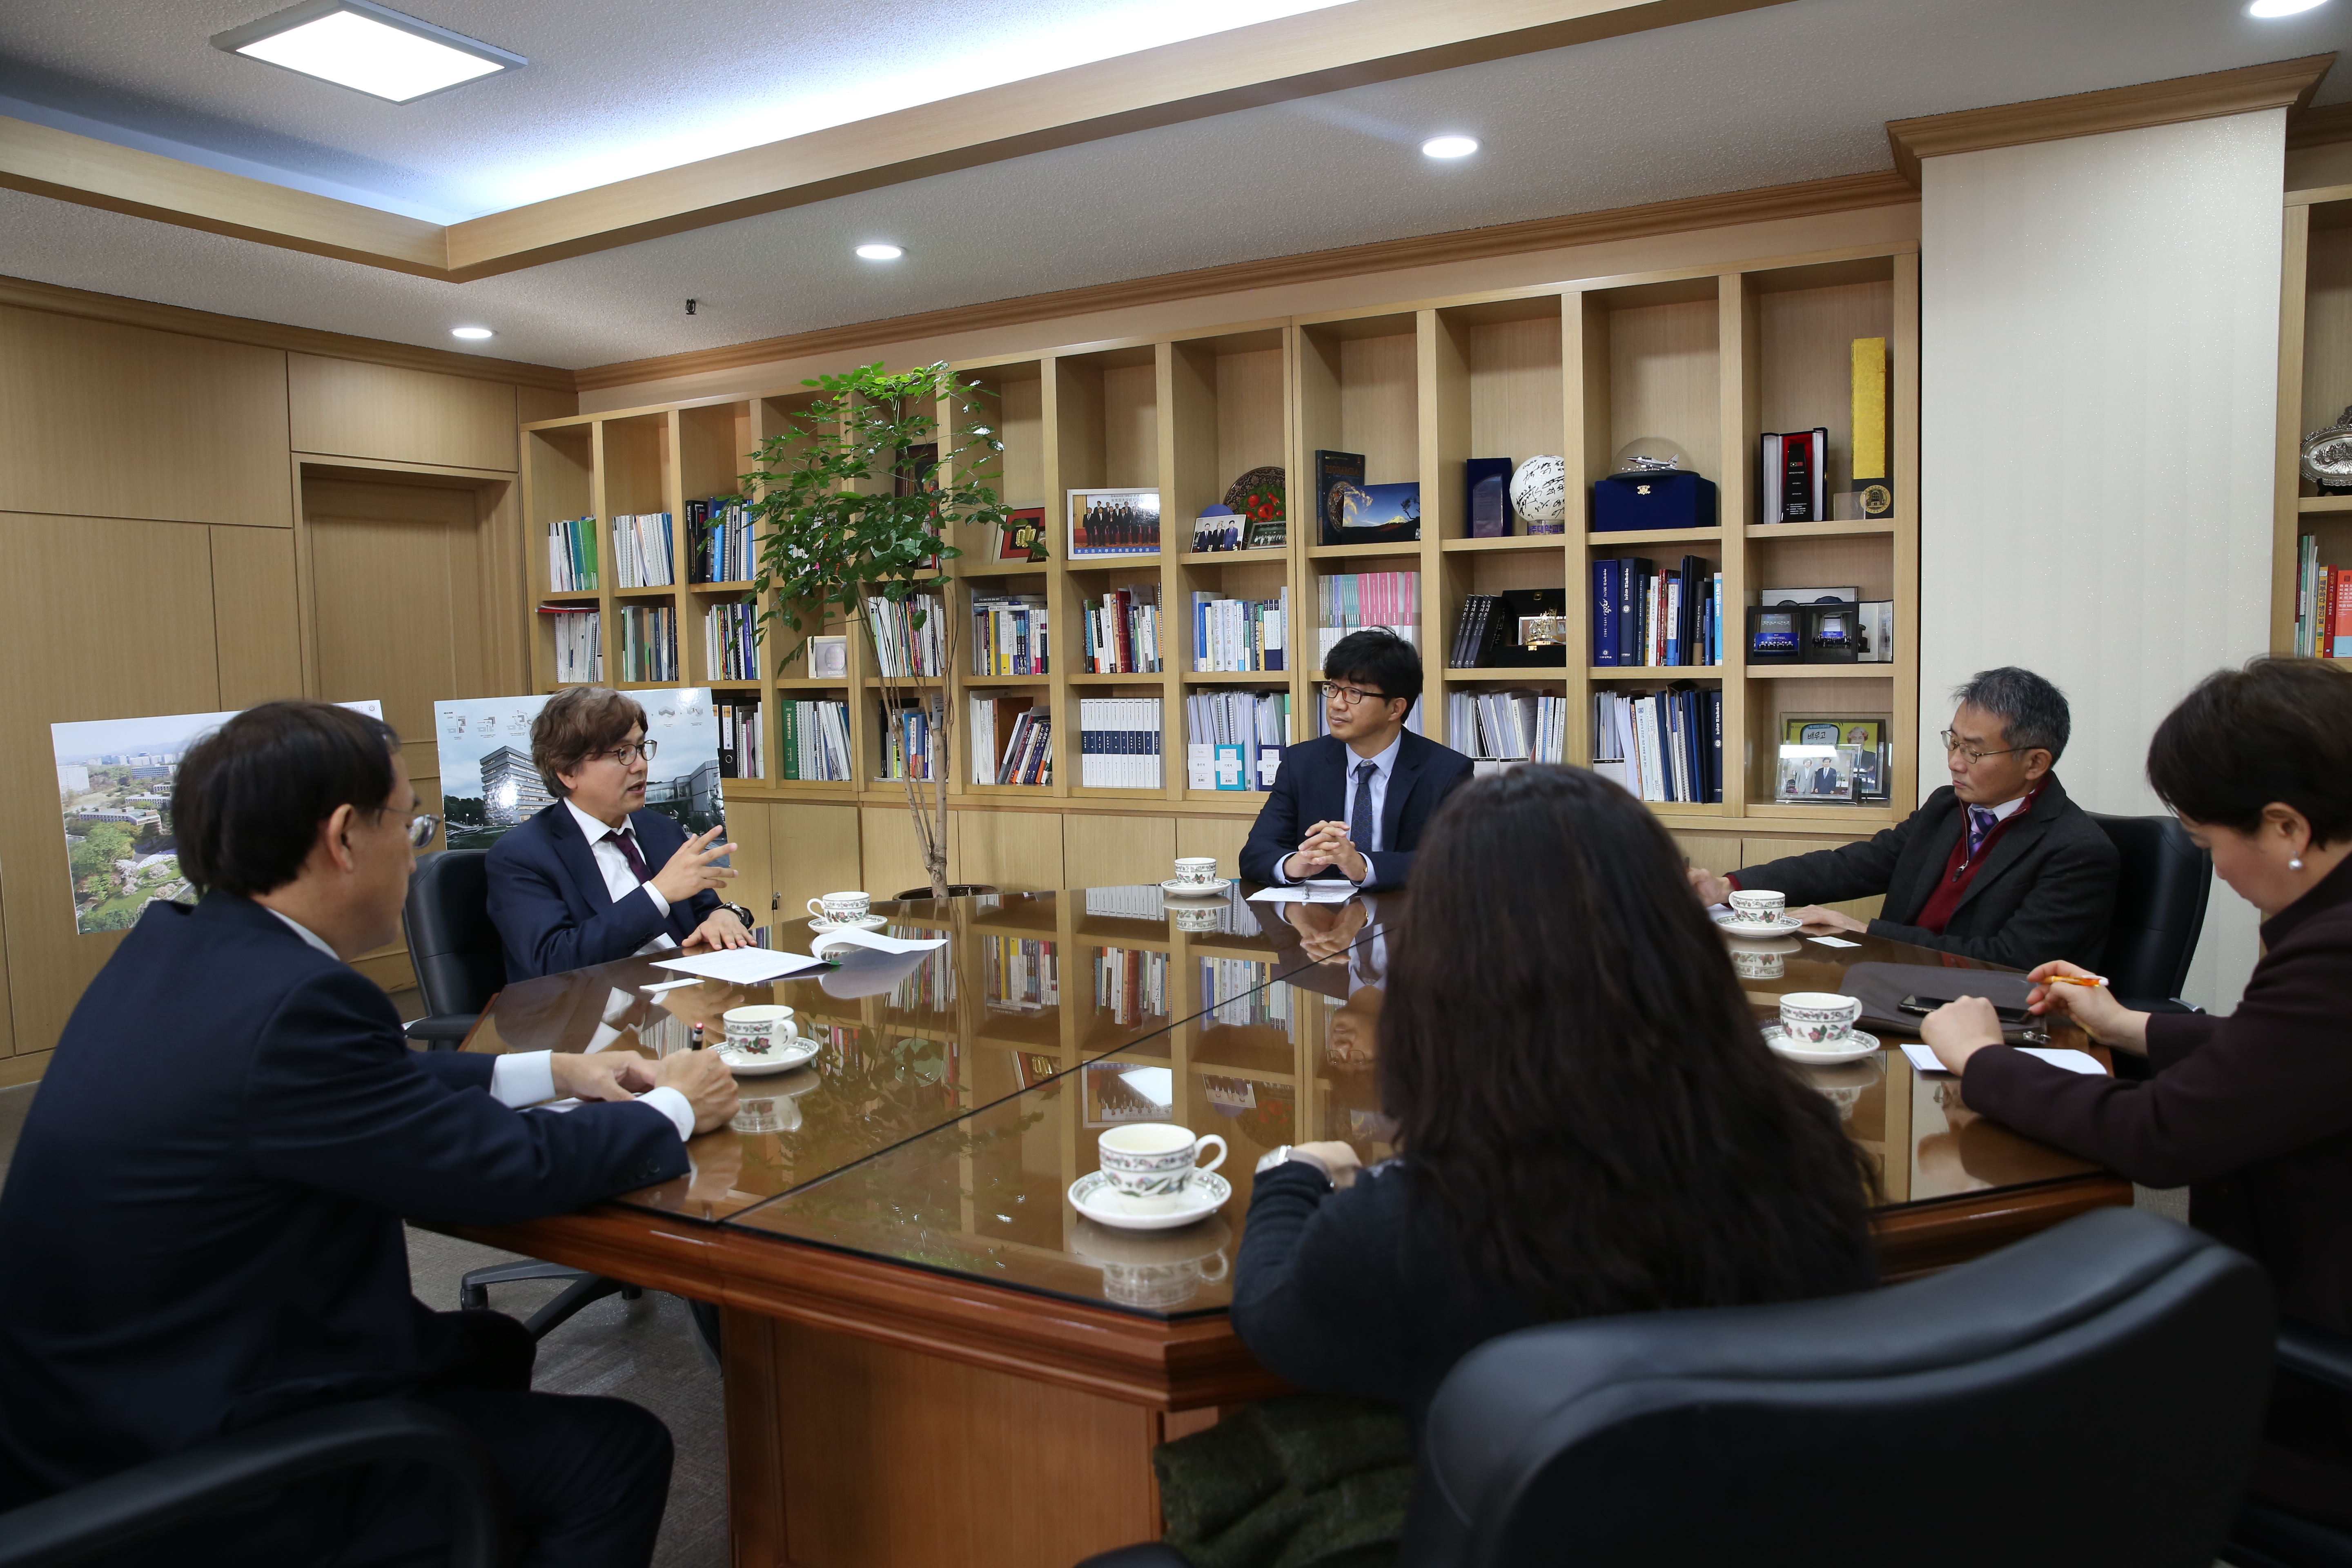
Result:
M252 1502L294 1481L362 1465L437 1465L456 1483L452 1568L494 1568L506 1505L482 1443L454 1418L405 1399L306 1410L0 1514L0 1568L52 1568Z

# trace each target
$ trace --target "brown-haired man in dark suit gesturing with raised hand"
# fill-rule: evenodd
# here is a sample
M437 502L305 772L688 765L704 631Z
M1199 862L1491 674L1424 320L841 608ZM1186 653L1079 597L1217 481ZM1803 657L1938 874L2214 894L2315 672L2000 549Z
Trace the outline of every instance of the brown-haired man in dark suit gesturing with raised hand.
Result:
M489 919L506 978L529 980L637 952L750 947L750 910L720 903L724 823L687 837L644 806L654 743L644 708L569 686L532 719L532 762L555 804L489 846ZM652 870L652 867L661 870Z

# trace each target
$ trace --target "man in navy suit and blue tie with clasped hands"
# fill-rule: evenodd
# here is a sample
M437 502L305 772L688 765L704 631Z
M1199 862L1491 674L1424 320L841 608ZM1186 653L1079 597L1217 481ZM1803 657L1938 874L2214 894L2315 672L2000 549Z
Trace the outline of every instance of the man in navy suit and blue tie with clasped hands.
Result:
M1350 632L1331 646L1331 733L1284 748L1275 790L1242 844L1247 882L1345 877L1367 891L1404 886L1430 813L1470 780L1468 757L1404 729L1418 698L1421 654L1395 632Z

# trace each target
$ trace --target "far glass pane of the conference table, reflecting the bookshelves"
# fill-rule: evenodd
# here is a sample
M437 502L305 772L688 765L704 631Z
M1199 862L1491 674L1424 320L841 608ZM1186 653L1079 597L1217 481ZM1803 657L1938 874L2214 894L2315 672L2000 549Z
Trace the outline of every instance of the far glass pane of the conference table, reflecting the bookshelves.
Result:
M680 976L652 959L600 964L506 987L466 1048L668 1056L689 1048L696 1023L722 1044L727 1009L790 1006L816 1058L790 1072L739 1072L743 1110L687 1145L694 1173L614 1199L720 1220L1035 1093L1091 1058L1155 1048L1164 1058L1167 1046L1152 1041L1207 1009L1240 1020L1287 1006L1268 987L1315 964L1268 905L1237 891L1207 900L1164 900L1157 886L924 898L877 903L875 914L882 936L943 945L851 954L767 985L699 980L661 992L644 987ZM804 938L786 926L779 945L793 950L795 936ZM1089 1084L1122 1105L1141 1093L1120 1077Z

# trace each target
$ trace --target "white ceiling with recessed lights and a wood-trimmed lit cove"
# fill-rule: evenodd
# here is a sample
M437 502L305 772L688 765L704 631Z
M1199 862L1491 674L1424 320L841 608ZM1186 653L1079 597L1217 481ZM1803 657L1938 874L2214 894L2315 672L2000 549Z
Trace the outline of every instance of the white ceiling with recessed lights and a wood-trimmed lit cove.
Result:
M466 216L936 94L960 61L1058 66L1303 0L477 0L407 9L532 59L388 106L207 47L270 0L0 12L19 118L343 200ZM960 21L943 21L957 9ZM1108 24L1103 19L1110 19ZM847 19L847 21L844 21ZM1152 28L1160 28L1157 33ZM1004 38L1025 40L1007 59ZM1105 45L1110 40L1110 45ZM2352 0L1788 0L1566 49L1242 108L435 282L0 190L0 273L501 360L609 364L1228 261L1891 167L1884 122L2352 49ZM2352 99L2347 68L2319 103ZM750 87L748 87L750 82ZM762 82L767 87L762 87ZM863 99L861 113L877 106ZM691 108L680 108L691 106ZM7 106L0 106L5 113ZM75 122L64 115L78 115ZM734 127L734 129L727 129ZM1482 150L1421 158L1463 129ZM195 155L191 155L195 158ZM861 240L903 261L851 259ZM696 299L696 315L684 301Z

